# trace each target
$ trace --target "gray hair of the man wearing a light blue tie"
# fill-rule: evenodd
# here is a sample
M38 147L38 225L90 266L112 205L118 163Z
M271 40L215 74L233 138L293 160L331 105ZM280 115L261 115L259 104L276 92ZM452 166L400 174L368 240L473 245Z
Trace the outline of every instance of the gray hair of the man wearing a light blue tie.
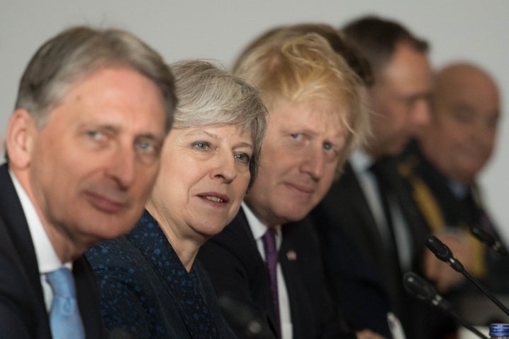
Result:
M110 67L134 69L156 84L165 101L168 132L177 104L170 69L156 51L124 30L78 26L45 42L23 73L16 109L28 110L38 127L45 126L73 83Z

